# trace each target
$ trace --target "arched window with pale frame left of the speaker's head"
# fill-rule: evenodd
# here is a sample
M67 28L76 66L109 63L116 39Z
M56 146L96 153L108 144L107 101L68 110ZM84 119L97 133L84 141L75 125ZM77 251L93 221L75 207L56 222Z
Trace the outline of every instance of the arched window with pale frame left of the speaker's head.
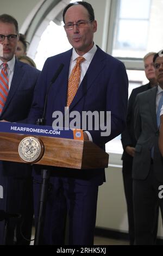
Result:
M30 41L28 56L34 59L37 69L42 70L48 57L72 47L67 40L62 21L62 11L72 2L76 1L44 1L34 15L26 35L27 41Z

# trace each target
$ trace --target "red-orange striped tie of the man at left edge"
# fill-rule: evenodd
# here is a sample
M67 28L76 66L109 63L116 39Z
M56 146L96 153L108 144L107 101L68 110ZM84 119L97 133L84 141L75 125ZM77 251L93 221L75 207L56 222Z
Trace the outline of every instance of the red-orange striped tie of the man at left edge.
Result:
M0 74L0 114L3 111L3 107L9 93L9 78L7 72L8 64L2 63L2 65L3 68Z

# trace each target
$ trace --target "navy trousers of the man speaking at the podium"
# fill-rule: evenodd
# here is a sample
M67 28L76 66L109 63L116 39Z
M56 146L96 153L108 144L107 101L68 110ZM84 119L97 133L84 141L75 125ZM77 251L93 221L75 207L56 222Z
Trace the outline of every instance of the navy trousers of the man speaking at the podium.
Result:
M38 176L35 180L40 179ZM74 179L50 178L43 242L63 245L66 212L69 245L93 245L98 186L85 186ZM34 182L35 223L37 223L40 184Z

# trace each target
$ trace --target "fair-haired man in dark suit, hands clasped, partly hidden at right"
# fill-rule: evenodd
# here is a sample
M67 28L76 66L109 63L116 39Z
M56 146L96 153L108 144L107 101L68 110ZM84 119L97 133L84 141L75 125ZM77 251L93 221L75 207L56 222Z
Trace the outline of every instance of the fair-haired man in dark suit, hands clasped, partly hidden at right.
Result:
M143 63L145 66L145 74L149 83L137 87L132 90L131 95L128 100L128 111L127 111L127 127L122 132L121 141L123 146L123 184L124 193L127 202L127 212L128 212L128 224L129 224L129 240L130 245L134 244L135 240L135 225L134 225L134 210L133 210L133 179L132 179L132 167L133 167L133 157L135 153L136 139L134 134L134 108L135 99L137 94L145 92L156 86L157 81L155 78L155 71L153 65L153 57L156 52L149 52L143 58ZM156 240L158 230L158 221L156 220L156 226L154 230L154 237Z

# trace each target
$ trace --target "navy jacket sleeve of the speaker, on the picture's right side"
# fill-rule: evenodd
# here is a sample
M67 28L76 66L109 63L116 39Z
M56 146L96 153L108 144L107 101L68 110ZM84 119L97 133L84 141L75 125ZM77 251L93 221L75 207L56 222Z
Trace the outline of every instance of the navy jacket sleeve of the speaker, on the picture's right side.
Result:
M108 128L108 125L110 125L110 135L103 129L99 129L99 131L90 131L93 142L96 144L103 144L111 141L111 139L120 135L126 127L128 77L126 68L121 62L118 62L111 72L105 97L106 99L103 100L106 102L106 111L111 112L111 124L105 120L105 123L102 126Z

